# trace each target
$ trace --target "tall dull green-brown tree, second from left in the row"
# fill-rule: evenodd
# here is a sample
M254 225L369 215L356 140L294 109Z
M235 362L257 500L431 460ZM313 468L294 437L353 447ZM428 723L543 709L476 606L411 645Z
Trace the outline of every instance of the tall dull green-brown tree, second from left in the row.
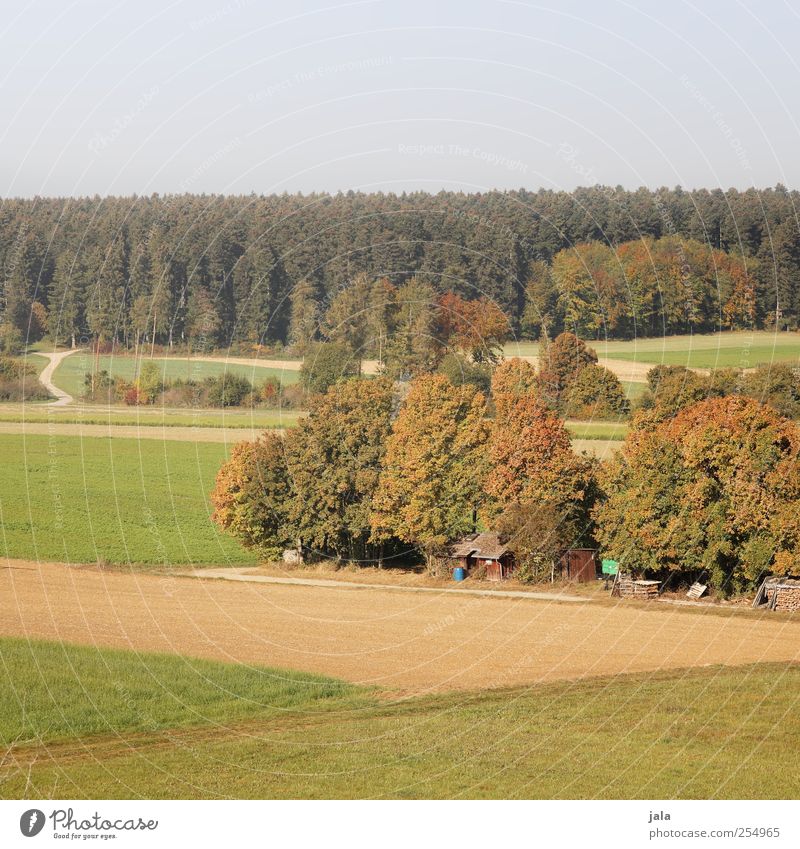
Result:
M287 434L295 492L288 516L304 545L337 557L368 555L391 412L387 378L346 380L315 397L308 416Z

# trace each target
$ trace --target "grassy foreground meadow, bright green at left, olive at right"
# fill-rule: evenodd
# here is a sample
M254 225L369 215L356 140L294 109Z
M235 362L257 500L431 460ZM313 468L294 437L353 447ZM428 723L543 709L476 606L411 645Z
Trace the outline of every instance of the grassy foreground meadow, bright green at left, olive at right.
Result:
M0 640L4 798L797 798L800 668L390 701L298 673Z

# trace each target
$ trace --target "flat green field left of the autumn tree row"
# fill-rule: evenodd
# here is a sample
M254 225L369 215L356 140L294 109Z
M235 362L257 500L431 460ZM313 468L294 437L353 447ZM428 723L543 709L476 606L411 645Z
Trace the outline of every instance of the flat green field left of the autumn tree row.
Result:
M213 443L0 435L0 552L67 563L253 563L218 533Z

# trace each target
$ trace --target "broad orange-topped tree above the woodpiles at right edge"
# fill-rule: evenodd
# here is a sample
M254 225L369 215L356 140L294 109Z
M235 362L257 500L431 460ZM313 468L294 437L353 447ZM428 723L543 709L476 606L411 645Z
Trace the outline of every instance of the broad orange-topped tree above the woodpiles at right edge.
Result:
M705 573L724 593L800 557L800 431L770 407L711 398L642 416L605 466L596 537L646 574Z

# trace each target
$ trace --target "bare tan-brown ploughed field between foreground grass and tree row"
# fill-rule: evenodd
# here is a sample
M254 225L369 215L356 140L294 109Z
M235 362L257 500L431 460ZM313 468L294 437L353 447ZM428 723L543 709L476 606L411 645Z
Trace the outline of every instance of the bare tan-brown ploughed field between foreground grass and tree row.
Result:
M800 618L0 563L2 635L306 669L395 692L800 660Z

